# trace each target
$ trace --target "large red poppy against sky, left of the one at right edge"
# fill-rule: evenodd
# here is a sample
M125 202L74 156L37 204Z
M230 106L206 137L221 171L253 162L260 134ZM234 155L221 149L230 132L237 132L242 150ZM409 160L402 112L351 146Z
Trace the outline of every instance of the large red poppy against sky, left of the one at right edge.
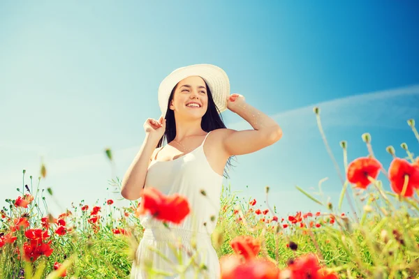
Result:
M382 165L375 158L360 157L348 165L346 177L356 188L366 189L371 183L369 177L376 179Z

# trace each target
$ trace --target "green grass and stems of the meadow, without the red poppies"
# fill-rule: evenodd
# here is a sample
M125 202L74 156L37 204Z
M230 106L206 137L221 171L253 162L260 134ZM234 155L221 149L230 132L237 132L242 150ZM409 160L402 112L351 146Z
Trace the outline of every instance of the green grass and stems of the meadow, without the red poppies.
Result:
M325 140L319 114L316 116ZM419 141L414 121L409 121L409 125ZM368 137L364 138L369 152L372 153ZM328 146L327 140L325 144ZM341 146L346 160L346 144L341 143ZM406 151L409 155L409 151ZM106 153L112 160L109 149ZM410 159L413 161L413 158ZM344 162L344 165L347 166L348 163ZM45 176L45 167L41 169ZM118 188L120 181L112 181L112 185ZM321 183L321 190L320 186ZM32 191L32 185L30 190L35 199L27 209L13 206L14 199L6 200L10 207L2 211L0 233L3 237L13 227L13 220L22 216L29 220L30 226L27 229L41 228L41 218L48 214L44 191L39 190L39 184L35 191ZM267 188L267 197L268 190ZM320 216L313 212L313 217L303 218L305 227L300 227L300 223L291 224L288 216L277 216L276 210L267 201L267 207L259 207L263 201L257 201L255 206L251 206L248 201L244 202L232 193L229 187L223 187L222 210L216 231L212 235L219 257L233 254L230 241L235 236L251 235L262 241L258 257L269 257L280 269L285 269L290 259L314 252L321 264L336 271L339 278L419 278L417 196L408 199L385 191L381 181L373 181L365 192L359 193L345 179L342 181L341 198L332 203L323 203L301 188L297 190L302 191L302 196L305 195L308 202L324 206ZM20 190L19 195L24 193L28 193L28 190ZM45 194L54 197L50 189ZM351 202L357 218L353 213L350 216L341 216L340 207L344 198ZM24 261L16 251L22 251L22 245L27 241L25 229L13 232L17 240L5 243L0 248L0 278L59 278L57 271L54 272L54 262L64 263L66 278L129 278L134 252L143 232L138 217L135 216L136 202L131 202L129 208L117 208L105 202L99 204L101 211L98 215L101 219L96 225L88 221L94 204L89 204L89 211L84 212L80 210L82 205L83 202L68 209L71 215L65 219L66 228L72 229L71 232L59 236L54 233L57 225L51 225L48 240L52 241L51 248L54 251L49 257L42 255L34 262ZM270 212L266 216L256 215L254 209L257 208L270 209ZM270 219L272 216L277 216L278 222L260 221L260 218ZM333 224L332 219L335 220ZM311 221L313 227L309 225ZM284 228L284 224L288 227ZM320 226L316 227L316 224ZM128 235L114 234L112 229L115 227L126 229ZM291 241L297 244L296 250L287 247Z

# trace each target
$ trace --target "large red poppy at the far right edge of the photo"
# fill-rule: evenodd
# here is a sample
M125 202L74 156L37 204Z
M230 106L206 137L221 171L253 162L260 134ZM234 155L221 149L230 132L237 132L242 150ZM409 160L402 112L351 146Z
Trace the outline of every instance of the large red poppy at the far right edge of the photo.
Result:
M413 196L414 189L419 188L419 164L411 164L407 160L395 158L388 169L388 178L393 192L402 195L405 176L409 181L406 186L405 197Z

